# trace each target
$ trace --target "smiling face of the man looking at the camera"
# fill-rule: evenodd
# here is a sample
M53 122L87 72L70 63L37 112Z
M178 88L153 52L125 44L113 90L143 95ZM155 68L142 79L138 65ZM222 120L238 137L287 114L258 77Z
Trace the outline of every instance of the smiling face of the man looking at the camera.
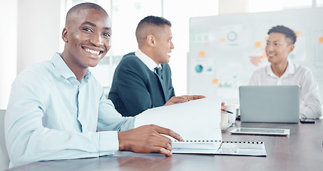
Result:
M111 20L104 11L82 9L68 16L62 33L61 56L69 68L87 70L98 65L111 47Z

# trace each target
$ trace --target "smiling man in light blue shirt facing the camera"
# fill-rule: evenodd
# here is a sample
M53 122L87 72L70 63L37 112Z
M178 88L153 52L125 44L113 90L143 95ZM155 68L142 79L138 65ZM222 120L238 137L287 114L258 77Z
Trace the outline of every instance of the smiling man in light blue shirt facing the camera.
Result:
M111 20L101 6L83 3L66 16L65 48L51 61L22 71L12 84L5 118L10 167L40 160L110 155L116 150L172 155L172 130L119 114L88 71L111 47ZM97 131L98 130L98 131Z

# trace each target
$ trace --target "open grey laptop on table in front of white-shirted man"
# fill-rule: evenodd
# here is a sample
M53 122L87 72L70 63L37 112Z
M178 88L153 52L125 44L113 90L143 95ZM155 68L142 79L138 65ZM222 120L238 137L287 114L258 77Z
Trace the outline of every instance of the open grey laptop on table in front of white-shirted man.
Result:
M239 96L241 122L299 122L299 86L240 86Z

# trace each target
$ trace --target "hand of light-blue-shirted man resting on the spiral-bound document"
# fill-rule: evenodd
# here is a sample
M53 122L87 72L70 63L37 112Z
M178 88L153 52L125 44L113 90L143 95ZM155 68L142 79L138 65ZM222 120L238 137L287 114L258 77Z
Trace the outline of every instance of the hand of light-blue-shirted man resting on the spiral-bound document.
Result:
M169 135L178 141L183 138L173 130L158 125L143 125L132 130L118 132L119 150L150 153L159 152L171 156L172 141L164 135Z

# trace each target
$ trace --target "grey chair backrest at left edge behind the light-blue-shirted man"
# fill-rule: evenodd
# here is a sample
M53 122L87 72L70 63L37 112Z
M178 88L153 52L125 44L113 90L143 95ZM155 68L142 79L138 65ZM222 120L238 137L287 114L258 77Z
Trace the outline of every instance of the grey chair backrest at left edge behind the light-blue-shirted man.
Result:
M9 167L9 155L4 140L4 114L6 110L0 110L0 170L7 170Z

